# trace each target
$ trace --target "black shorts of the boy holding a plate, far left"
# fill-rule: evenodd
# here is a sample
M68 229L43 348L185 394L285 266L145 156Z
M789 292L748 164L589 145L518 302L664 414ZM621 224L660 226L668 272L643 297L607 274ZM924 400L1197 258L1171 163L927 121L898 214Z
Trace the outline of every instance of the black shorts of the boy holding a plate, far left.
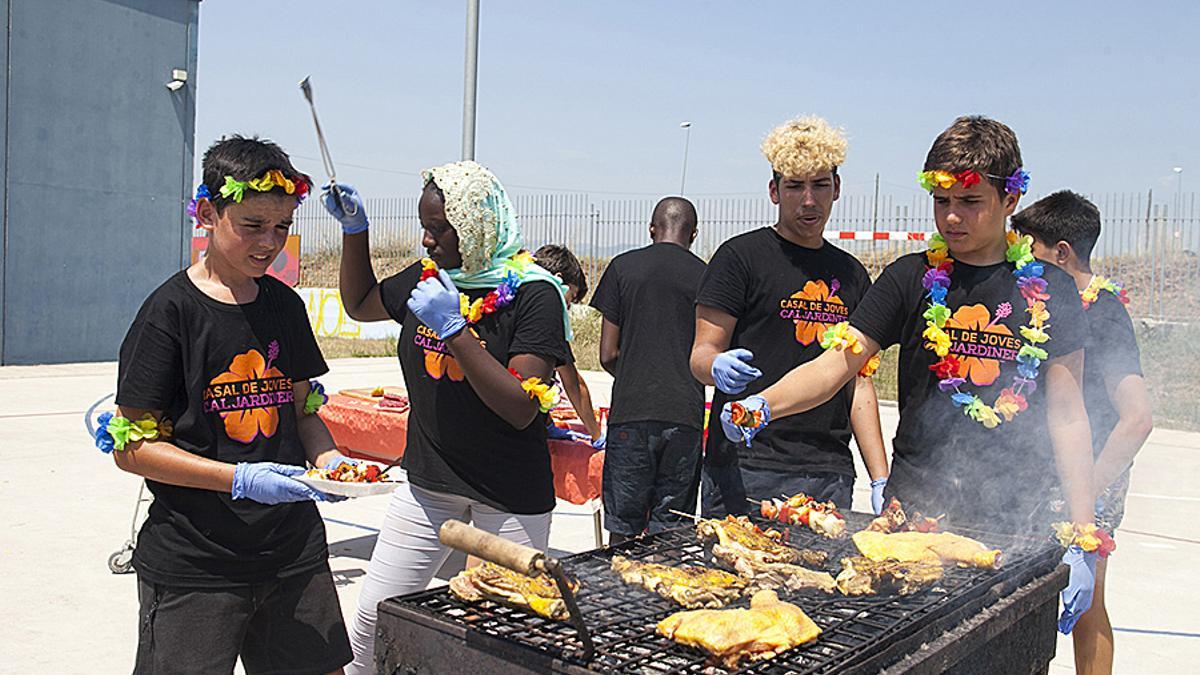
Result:
M138 579L134 674L324 674L353 658L328 566L236 589L184 589Z

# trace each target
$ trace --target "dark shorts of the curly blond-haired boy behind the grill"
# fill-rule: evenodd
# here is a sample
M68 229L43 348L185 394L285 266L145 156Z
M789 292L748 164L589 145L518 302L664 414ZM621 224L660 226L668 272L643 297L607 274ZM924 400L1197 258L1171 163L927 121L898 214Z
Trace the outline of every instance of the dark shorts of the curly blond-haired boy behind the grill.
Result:
M841 473L782 473L761 468L704 465L701 484L701 513L704 518L757 513L750 500L784 498L804 492L817 501L829 501L848 512L854 496L854 479Z

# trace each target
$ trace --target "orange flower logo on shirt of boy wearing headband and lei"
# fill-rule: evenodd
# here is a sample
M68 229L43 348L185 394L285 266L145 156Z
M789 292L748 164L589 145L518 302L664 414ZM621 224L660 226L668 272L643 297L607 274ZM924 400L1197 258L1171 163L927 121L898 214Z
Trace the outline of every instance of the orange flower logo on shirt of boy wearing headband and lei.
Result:
M977 387L986 387L1000 377L1001 362L1016 360L1021 339L1000 319L1013 313L1013 305L1002 303L995 317L984 305L962 305L946 319L946 333L950 336L950 353L960 358L962 365L958 376L967 378Z

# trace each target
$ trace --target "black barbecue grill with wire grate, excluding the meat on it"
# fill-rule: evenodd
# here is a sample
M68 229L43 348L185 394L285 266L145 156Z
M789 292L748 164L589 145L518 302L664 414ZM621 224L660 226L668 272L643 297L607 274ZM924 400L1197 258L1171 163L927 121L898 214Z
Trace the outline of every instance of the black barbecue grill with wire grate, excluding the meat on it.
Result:
M829 552L827 569L856 555L848 537L832 540L804 527L787 530L790 543ZM870 516L850 514L858 531ZM737 673L1044 673L1054 658L1057 592L1067 571L1049 538L976 531L1003 551L1001 569L947 567L931 589L910 595L845 597L816 590L779 590L821 627L821 637L770 659L744 658ZM580 614L594 645L571 622L552 621L491 602L466 603L446 589L379 604L376 667L384 674L415 673L728 673L704 652L655 633L655 625L683 608L624 584L610 571L613 555L664 565L712 562L694 527L670 530L624 544L562 558L580 580ZM743 598L730 607L746 607Z

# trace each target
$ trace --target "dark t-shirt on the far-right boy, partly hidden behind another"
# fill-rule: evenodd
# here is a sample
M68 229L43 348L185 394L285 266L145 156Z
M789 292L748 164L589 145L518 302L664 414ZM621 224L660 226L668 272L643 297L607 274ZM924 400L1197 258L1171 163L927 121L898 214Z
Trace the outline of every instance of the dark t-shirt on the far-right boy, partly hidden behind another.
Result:
M1105 380L1120 380L1127 375L1141 377L1141 353L1129 312L1116 295L1100 291L1084 313L1088 327L1084 352L1084 401L1092 424L1092 448L1099 455L1121 418L1109 399Z

